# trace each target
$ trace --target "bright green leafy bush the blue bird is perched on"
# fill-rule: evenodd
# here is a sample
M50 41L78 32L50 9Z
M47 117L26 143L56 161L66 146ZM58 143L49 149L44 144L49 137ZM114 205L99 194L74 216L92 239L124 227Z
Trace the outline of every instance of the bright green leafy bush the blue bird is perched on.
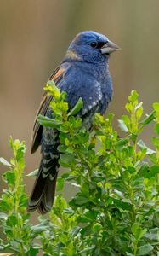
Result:
M105 119L94 116L91 132L82 127L77 113L82 99L68 111L65 92L53 82L45 90L54 97L54 119L38 116L41 125L60 132L60 165L57 196L48 218L31 224L26 211L24 184L25 143L10 138L13 158L7 161L0 200L2 252L15 255L159 255L159 103L143 117L142 102L135 90L128 96L128 114L118 120L120 136ZM154 124L153 150L139 139L146 125ZM122 137L121 137L122 134ZM35 175L31 172L28 177ZM77 187L69 202L64 185Z

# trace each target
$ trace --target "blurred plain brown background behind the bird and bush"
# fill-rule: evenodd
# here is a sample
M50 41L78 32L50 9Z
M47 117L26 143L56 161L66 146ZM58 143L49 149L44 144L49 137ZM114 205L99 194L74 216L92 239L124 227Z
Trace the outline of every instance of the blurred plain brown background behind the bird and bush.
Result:
M83 30L101 32L122 49L111 56L109 111L119 118L136 89L149 113L159 101L158 10L158 0L0 0L0 156L11 156L12 135L26 141L26 172L38 167L39 152L30 154L31 130L43 85Z

